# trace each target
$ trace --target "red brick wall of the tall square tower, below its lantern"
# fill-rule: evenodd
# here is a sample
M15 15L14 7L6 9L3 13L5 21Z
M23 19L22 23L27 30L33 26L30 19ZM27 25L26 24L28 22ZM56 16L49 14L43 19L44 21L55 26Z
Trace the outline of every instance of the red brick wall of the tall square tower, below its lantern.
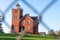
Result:
M19 20L20 17L22 16L21 10L20 9L12 9L12 25L16 28L15 32L19 32ZM12 27L13 27L12 26ZM11 32L13 31L11 27Z

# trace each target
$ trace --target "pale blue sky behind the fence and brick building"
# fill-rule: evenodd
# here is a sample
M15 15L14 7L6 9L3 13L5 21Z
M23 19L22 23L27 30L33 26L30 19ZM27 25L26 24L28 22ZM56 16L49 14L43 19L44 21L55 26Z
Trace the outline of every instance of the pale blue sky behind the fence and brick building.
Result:
M15 0L0 0L0 10L4 13L5 10L10 7L9 5ZM30 7L28 7L22 0L17 0L16 3L20 4L23 9L23 15L29 13L30 16L38 16L46 6L53 0L26 0L32 7L34 7L38 13L35 13ZM2 22L2 28L5 33L10 33L11 22L12 22L12 8L15 8L16 3L4 13L4 20L9 24L7 26ZM1 14L1 13L0 13ZM40 21L40 20L39 20ZM57 0L42 16L42 21L54 31L60 30L60 0ZM43 24L39 22L38 32L48 32Z

